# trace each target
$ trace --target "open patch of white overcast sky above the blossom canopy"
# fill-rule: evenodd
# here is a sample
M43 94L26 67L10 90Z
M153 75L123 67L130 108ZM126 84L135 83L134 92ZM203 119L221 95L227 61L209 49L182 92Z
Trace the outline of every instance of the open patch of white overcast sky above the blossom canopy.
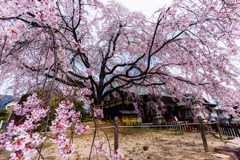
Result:
M107 3L108 0L101 0ZM155 11L163 6L170 6L172 0L116 0L122 3L130 11L142 11L148 18L150 18Z

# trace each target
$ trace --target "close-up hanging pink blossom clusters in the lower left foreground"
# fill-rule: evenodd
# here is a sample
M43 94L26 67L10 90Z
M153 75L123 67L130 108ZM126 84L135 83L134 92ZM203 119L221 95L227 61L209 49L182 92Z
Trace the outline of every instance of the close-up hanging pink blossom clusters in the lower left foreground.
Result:
M65 98L74 96L78 101L84 101L87 105L91 105L93 102L84 96L91 93L88 88L83 88L74 93L71 87L65 86L61 87L61 92ZM37 147L47 137L42 137L41 133L36 132L36 129L42 125L40 122L47 117L49 109L49 106L44 105L43 101L38 99L36 93L29 96L22 105L15 106L14 112L16 115L25 116L25 121L17 125L12 120L7 127L7 131L0 135L0 147L6 147L6 150L15 152L11 153L11 159L30 159L31 156L40 152ZM99 107L95 107L94 110L97 115L102 113ZM51 126L48 127L51 133L55 135L50 138L50 141L58 145L61 158L68 158L74 153L74 145L67 138L67 129L74 125L76 135L80 136L87 131L89 126L81 124L79 119L81 113L75 111L74 104L70 100L62 100L55 111L56 117L51 121ZM97 128L98 126L96 126ZM100 138L98 142L97 153L104 154L107 157L109 148L102 148L103 138ZM41 155L41 153L39 154ZM114 154L114 156L119 157L120 155Z

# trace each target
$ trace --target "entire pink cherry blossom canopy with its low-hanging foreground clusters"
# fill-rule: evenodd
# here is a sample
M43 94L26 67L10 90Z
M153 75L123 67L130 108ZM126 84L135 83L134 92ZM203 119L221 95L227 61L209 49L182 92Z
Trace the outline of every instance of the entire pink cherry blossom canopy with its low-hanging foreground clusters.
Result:
M197 97L204 109L207 94L239 116L239 11L233 0L174 0L148 19L116 1L0 1L1 85L11 81L5 91L18 98L39 93L15 106L24 119L9 123L0 147L16 152L13 159L29 159L36 152L31 145L44 140L35 129L48 120L44 129L61 157L69 157L74 150L64 134L88 128L75 100L101 114L93 106L122 96L143 103L143 94L149 109L165 110L163 94L191 109L186 95Z

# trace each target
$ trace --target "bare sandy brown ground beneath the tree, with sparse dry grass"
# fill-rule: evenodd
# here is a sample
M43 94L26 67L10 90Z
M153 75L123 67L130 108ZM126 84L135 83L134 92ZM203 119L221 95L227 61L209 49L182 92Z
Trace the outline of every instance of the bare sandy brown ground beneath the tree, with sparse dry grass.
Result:
M92 122L88 122L88 124L90 128L93 127ZM102 127L109 125L112 126L113 124L100 122L100 126ZM114 129L105 129L105 131L108 134L110 145L113 148ZM93 133L94 131L90 130L79 137L74 136L74 148L80 155L80 158L78 158L75 153L70 159L88 159ZM98 136L99 138L103 137L103 132L100 132ZM200 132L119 128L119 150L121 155L127 160L201 160L211 158L214 147L224 146L223 142L214 138L211 134L207 134L206 137L210 150L210 152L207 153L204 152ZM148 146L148 150L143 151L143 146ZM106 147L107 144L104 144L103 148ZM61 159L58 153L57 146L47 140L43 147L45 159ZM0 150L0 159L6 158L8 155L9 153L4 149ZM104 159L103 157L98 158ZM34 159L34 157L32 159ZM96 154L94 159L97 159Z

